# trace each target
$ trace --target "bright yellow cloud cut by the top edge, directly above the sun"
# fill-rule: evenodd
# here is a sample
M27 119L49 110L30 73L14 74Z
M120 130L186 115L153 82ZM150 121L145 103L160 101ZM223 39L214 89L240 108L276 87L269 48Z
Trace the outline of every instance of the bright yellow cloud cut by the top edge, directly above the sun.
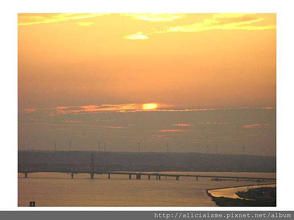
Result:
M176 19L184 18L184 14L152 14L152 13L136 13L121 14L135 20L144 20L148 22L172 22Z

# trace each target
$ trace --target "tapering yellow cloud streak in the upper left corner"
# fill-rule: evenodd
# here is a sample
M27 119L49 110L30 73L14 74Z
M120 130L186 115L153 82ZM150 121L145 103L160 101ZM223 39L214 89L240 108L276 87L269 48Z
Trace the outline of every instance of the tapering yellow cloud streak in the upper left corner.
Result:
M18 25L32 25L41 23L54 23L63 22L69 20L79 20L95 18L108 14L92 13L92 14L78 14L78 13L63 13L63 14L19 14ZM87 22L81 22L87 23Z

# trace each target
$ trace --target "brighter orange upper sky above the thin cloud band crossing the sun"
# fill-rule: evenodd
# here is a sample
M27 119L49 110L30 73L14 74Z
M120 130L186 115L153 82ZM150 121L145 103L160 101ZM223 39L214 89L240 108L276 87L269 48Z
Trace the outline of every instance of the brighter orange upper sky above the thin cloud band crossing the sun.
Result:
M20 107L275 106L275 14L19 14Z

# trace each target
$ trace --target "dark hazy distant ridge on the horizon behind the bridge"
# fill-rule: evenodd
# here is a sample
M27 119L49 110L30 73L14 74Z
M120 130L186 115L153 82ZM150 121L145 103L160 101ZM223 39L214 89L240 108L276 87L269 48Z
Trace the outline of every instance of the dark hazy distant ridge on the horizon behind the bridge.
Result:
M200 153L127 153L86 151L19 151L18 168L90 169L101 171L276 172L276 157Z

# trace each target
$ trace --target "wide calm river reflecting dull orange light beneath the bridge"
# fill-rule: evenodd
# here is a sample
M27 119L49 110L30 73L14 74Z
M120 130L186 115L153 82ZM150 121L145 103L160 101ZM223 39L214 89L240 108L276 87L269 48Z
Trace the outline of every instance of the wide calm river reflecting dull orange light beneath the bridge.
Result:
M276 173L211 173L162 172L210 176L248 176L275 178ZM24 178L18 174L18 206L217 206L206 194L206 189L256 184L247 181L211 181L211 178L142 176L141 180L127 175L77 174L72 179L62 173L33 173Z

